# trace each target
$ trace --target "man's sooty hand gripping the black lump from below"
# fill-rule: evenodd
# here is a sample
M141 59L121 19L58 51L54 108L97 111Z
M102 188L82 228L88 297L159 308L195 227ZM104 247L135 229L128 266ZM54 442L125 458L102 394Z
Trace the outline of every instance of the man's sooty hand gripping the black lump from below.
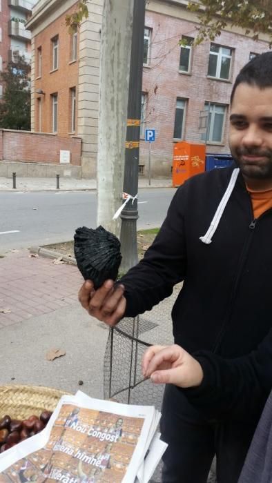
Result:
M95 290L93 282L86 280L79 290L79 302L90 315L109 326L115 326L126 309L124 285L114 286L113 280L106 280Z

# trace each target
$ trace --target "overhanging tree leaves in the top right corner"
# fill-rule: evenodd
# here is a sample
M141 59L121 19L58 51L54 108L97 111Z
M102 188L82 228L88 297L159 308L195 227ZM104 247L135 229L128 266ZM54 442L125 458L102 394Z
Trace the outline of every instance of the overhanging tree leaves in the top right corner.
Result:
M199 0L188 4L191 12L197 12L200 26L194 44L205 39L214 40L229 24L244 29L246 35L258 40L266 34L272 45L272 1L271 0Z

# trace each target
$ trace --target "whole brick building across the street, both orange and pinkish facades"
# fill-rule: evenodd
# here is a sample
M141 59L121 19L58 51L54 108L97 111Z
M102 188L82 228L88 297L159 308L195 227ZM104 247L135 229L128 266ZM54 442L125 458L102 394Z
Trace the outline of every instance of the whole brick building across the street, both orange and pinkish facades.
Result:
M39 0L27 23L32 31L32 130L81 137L82 175L93 177L103 0L88 2L89 18L71 37L65 17L75 3ZM269 48L264 37L253 41L238 28L226 28L216 41L193 48L196 34L197 16L186 10L185 0L146 4L141 137L145 128L155 128L153 175L170 175L173 144L179 140L206 142L206 152L229 152L233 79L251 56ZM187 43L181 47L184 37ZM145 174L148 145L142 140L140 146Z

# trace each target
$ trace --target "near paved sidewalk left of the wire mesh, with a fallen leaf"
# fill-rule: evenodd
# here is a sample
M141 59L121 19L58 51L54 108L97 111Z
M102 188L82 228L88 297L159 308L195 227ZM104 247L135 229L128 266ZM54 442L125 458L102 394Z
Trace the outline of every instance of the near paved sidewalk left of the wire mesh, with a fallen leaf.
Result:
M0 385L80 388L104 397L108 328L77 301L82 281L76 266L30 257L28 250L0 259ZM52 348L66 355L48 361Z

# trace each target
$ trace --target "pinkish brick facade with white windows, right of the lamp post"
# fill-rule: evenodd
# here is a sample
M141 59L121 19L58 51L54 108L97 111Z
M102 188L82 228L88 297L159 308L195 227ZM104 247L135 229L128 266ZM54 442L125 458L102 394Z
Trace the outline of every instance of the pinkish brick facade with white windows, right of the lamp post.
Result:
M269 50L268 41L253 41L239 28L226 28L214 42L192 48L197 17L183 3L151 0L146 11L142 137L145 127L155 128L152 161L156 175L171 171L175 141L206 142L206 152L229 153L232 83L253 55ZM179 45L183 38L186 47ZM209 110L207 128L205 110ZM146 170L145 141L141 148L140 163Z

